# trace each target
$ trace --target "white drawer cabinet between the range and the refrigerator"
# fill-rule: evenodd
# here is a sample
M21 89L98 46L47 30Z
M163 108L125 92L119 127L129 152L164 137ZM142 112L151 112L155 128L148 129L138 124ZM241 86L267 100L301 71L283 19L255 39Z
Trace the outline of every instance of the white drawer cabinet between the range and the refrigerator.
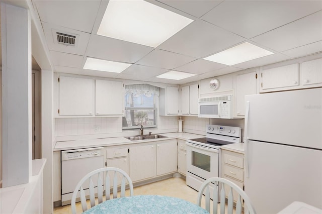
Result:
M244 153L221 150L221 177L244 189ZM229 187L225 186L226 197L229 192ZM232 195L236 202L237 192L233 190Z

